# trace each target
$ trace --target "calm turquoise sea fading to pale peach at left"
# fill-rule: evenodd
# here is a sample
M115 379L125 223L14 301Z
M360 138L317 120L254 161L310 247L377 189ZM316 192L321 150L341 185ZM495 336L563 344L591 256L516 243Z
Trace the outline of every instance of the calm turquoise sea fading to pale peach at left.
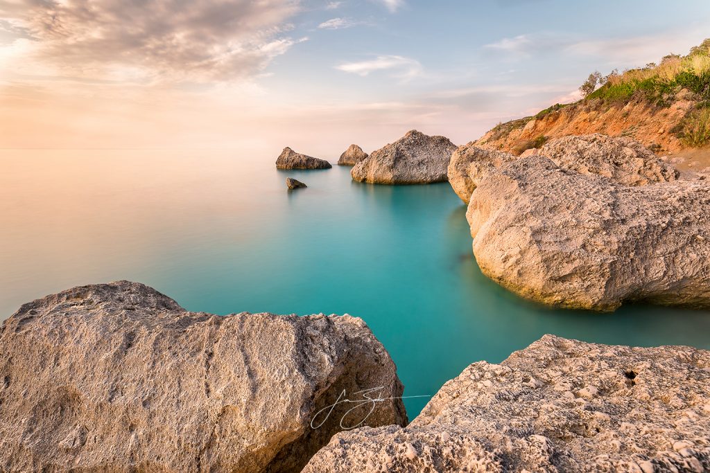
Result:
M283 172L227 151L3 151L0 165L1 318L116 279L192 311L350 313L390 352L406 395L545 333L710 348L707 311L552 311L493 284L448 184L358 184L349 168ZM286 191L287 176L309 188ZM410 418L426 401L405 402Z

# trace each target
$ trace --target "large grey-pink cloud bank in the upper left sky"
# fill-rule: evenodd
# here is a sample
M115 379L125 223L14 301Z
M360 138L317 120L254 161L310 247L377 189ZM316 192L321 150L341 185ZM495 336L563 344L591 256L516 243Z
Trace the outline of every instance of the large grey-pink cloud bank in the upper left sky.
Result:
M286 23L299 9L300 0L13 0L0 1L0 29L31 38L33 57L65 74L231 80L300 42Z

